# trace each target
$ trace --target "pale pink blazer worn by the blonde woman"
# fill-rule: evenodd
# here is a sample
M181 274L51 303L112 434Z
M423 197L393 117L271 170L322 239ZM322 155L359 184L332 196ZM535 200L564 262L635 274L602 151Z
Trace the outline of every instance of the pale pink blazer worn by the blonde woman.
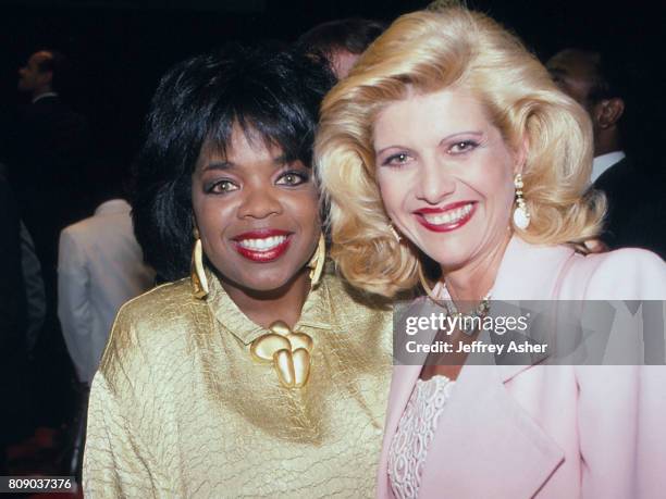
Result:
M514 237L493 299L666 300L666 265L638 249L583 257ZM379 498L394 497L388 448L420 371L394 367ZM666 497L666 366L467 365L419 497Z

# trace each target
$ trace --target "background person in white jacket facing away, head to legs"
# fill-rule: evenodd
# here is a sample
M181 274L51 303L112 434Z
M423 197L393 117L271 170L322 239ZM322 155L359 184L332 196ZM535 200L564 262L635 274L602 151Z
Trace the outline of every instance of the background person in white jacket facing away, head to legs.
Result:
M152 287L155 272L134 235L125 194L124 160L107 155L92 163L92 216L65 227L58 255L58 316L79 382L79 411L69 428L63 456L67 472L81 477L85 414L92 376L113 319L127 300Z

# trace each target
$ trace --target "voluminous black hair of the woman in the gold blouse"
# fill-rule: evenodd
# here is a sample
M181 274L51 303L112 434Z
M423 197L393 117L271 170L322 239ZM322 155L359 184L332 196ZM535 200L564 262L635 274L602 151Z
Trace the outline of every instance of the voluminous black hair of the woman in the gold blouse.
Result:
M225 151L237 124L310 166L319 104L333 83L325 65L272 43L229 45L169 70L152 98L133 196L136 237L160 279L189 273L192 174L202 147Z

